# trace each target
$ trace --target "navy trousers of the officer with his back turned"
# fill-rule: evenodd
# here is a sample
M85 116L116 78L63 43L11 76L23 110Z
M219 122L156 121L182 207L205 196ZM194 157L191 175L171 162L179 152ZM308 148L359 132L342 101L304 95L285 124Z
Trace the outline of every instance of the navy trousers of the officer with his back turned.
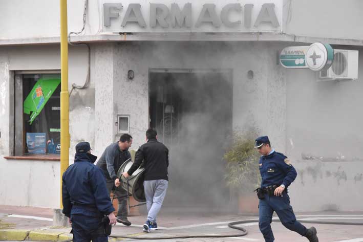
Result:
M91 217L83 214L72 214L73 242L107 242L105 234L98 234L102 226L101 217Z

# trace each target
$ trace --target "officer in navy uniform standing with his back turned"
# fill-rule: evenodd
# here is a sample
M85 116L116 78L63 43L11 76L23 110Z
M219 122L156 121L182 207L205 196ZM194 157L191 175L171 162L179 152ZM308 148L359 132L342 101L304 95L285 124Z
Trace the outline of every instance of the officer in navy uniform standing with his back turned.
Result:
M63 173L62 212L72 225L75 242L108 241L110 226L116 224L103 172L93 164L96 159L90 143L80 142L76 145L74 164Z

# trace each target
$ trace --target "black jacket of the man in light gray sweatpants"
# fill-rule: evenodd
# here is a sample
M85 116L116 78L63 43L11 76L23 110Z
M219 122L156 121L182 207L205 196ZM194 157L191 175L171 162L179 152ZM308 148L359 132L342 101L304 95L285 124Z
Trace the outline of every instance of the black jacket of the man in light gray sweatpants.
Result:
M150 139L147 143L140 146L136 151L135 162L130 167L129 175L144 161L145 181L168 180L167 167L169 166L169 150L163 143L156 139Z

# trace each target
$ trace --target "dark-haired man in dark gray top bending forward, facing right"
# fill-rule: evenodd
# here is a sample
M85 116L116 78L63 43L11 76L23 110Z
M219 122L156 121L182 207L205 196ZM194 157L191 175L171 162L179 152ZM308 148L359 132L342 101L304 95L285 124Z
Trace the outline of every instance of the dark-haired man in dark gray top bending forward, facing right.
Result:
M118 200L117 222L130 226L131 222L127 220L127 192L120 186L120 180L117 178L117 171L120 166L131 158L129 148L132 145L132 136L123 134L120 140L110 144L102 153L97 162L106 178L106 185L109 193L114 189L114 195Z

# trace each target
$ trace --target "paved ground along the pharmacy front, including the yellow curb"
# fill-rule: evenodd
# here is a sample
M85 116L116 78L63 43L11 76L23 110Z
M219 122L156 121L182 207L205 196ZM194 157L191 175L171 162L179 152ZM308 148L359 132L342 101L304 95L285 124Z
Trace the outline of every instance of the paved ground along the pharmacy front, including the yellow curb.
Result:
M237 214L198 214L183 213L182 210L166 208L161 211L158 218L159 230L151 233L143 233L142 225L145 216L129 216L132 226L127 227L117 224L113 227L112 235L143 236L141 239L112 238L109 241L155 241L152 238L175 235L227 235L226 238L188 238L188 239L162 239L158 241L261 241L264 239L259 231L258 223L244 224L242 227L248 230L243 237L233 237L231 234L239 234L241 231L230 229L227 224L232 221L243 219L257 219L257 216L241 216ZM319 212L300 213L298 219L307 221L334 221L334 222L363 222L363 212ZM72 239L69 233L70 227L53 227L53 209L36 207L19 207L0 205L0 240L8 241L67 241ZM287 230L279 222L272 223L272 229L276 240L279 242L303 242L305 237ZM340 226L340 225L316 225L306 224L307 227L315 226L318 230L319 241L363 241L363 226ZM354 240L351 240L354 239Z

